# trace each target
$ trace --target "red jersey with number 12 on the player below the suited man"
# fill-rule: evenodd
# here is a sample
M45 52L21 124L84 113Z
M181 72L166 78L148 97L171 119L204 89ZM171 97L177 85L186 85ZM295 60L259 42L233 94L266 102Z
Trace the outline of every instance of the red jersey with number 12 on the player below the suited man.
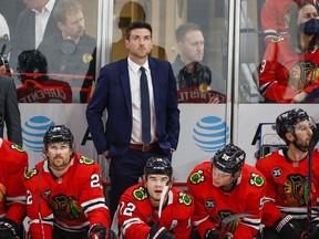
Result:
M168 193L168 202L162 210L160 225L172 231L177 239L188 238L193 212L193 198L173 187ZM157 209L152 209L143 183L132 186L122 195L117 217L125 239L147 238L151 227L158 220L157 216Z

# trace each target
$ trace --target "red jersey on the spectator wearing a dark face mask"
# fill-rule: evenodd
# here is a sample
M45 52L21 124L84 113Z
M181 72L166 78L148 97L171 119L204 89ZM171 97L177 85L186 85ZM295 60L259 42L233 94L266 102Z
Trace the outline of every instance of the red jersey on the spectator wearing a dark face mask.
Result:
M298 92L311 93L319 86L319 50L292 51L287 35L271 42L264 55L259 73L260 93L278 103L291 103Z

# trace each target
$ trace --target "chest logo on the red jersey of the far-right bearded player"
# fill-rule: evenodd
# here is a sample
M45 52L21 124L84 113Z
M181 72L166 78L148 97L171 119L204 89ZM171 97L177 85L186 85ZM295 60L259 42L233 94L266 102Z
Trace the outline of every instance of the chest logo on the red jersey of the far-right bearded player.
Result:
M309 194L307 188L307 177L300 174L289 175L280 188L280 196L288 207L306 206ZM312 183L311 194L316 194Z

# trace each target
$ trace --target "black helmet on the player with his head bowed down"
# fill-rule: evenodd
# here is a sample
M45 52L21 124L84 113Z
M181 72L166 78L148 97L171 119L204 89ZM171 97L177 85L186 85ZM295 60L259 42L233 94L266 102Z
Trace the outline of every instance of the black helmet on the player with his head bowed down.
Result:
M222 172L235 174L243 168L246 153L241 148L228 144L215 153L212 163Z

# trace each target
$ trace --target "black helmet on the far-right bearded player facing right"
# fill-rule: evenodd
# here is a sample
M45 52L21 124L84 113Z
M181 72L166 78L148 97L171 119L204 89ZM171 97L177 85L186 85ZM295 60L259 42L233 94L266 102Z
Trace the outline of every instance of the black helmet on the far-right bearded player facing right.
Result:
M309 115L301 108L294 108L280 114L276 119L276 132L285 142L286 133L294 132L296 124L302 121L309 121Z

